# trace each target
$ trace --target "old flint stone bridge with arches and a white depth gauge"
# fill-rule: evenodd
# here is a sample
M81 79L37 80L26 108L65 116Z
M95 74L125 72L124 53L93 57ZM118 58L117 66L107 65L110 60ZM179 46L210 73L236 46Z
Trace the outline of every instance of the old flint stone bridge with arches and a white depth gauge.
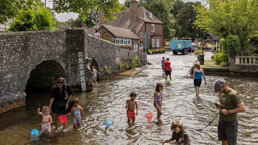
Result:
M78 52L83 54L87 91L92 90L90 63L98 79L105 76L105 66L111 74L119 71L119 45L80 29L0 33L0 51L0 113L25 105L27 91L49 90L58 77L81 91Z

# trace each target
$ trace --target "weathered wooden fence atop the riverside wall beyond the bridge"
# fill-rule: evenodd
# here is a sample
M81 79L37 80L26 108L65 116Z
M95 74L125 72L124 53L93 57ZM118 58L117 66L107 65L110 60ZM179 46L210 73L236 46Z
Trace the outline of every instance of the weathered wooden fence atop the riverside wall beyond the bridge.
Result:
M146 53L145 52L130 51L130 50L127 50L127 49L122 49L122 48L120 48L120 56L122 58L127 58L127 59L133 59L135 56L140 56L140 59L142 61L146 60Z

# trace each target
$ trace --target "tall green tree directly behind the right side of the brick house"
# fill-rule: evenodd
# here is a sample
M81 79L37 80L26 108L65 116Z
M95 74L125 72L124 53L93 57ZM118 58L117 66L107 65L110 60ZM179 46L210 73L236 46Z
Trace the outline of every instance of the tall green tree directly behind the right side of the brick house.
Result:
M171 40L175 34L173 29L175 20L170 11L173 9L173 2L171 0L139 0L138 5L145 7L156 18L163 22L163 38Z

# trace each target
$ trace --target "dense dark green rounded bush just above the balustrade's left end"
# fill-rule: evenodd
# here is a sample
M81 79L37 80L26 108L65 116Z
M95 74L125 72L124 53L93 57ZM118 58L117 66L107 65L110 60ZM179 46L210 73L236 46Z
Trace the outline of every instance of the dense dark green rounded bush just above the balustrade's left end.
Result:
M225 38L225 53L229 57L235 57L240 51L240 39L237 35L227 35Z

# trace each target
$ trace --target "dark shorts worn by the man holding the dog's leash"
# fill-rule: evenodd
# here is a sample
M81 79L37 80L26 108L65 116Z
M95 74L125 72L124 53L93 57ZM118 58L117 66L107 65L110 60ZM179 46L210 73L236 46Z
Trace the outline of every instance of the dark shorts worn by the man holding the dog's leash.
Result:
M228 145L237 144L238 121L218 120L218 140L228 141Z

